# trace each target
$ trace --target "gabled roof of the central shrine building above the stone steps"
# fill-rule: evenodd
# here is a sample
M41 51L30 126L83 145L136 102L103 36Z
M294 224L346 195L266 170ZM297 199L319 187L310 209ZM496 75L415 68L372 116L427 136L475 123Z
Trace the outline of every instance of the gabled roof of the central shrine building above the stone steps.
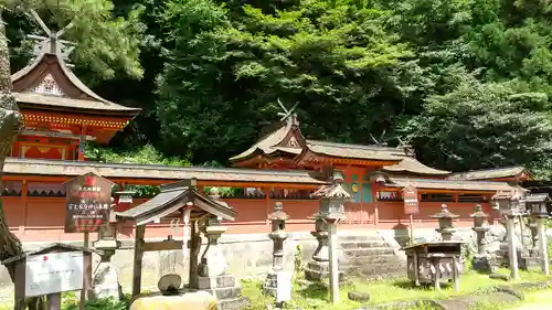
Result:
M390 173L446 177L448 171L424 165L402 148L362 146L308 140L302 136L296 116L284 119L268 135L244 152L230 158L236 167L264 168L270 164L309 167L325 163L383 165Z

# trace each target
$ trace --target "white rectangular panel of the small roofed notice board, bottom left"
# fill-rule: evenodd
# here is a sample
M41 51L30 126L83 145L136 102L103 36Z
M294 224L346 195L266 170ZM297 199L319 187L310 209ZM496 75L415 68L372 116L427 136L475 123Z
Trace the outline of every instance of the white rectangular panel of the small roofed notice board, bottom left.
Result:
M51 253L26 257L25 297L83 289L82 252Z

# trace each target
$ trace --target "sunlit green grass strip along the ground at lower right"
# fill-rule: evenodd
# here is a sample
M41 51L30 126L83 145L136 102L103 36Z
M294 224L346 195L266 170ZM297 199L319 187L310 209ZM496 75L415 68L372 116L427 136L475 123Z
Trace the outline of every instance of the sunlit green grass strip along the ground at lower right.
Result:
M499 272L508 274L507 269ZM302 281L295 281L293 287L293 301L287 306L288 309L301 308L305 310L353 310L365 304L374 304L400 300L422 300L422 299L445 299L458 295L484 293L496 286L514 282L544 281L550 278L539 272L520 272L521 279L517 281L505 282L502 280L490 279L486 275L468 272L460 279L460 291L455 291L452 287L443 287L440 291L433 288L414 288L411 281L406 279L362 281L355 280L352 284L342 286L340 290L341 302L333 306L330 302L327 286L320 284L306 285ZM349 291L370 292L369 302L357 302L348 299ZM243 295L252 301L250 310L266 309L267 303L274 302L262 293L258 281L243 282ZM429 310L431 307L422 307L416 310ZM503 308L502 308L503 309ZM479 308L478 308L479 310ZM481 309L484 310L484 309ZM492 310L492 309L489 309Z

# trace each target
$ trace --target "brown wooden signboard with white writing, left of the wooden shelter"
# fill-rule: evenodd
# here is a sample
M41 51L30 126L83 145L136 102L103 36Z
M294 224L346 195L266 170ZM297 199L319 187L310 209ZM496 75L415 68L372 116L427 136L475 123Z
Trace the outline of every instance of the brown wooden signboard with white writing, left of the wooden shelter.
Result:
M86 173L65 183L65 233L97 232L109 221L113 182Z

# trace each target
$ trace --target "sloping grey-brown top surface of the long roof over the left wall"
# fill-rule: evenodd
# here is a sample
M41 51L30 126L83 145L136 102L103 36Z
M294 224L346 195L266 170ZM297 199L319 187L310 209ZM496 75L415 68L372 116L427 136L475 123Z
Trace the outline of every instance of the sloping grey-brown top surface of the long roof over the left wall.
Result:
M99 163L89 161L63 161L8 158L4 175L63 175L77 177L94 172L104 178L141 180L184 180L221 182L258 182L289 184L328 184L309 171L272 171L232 168L169 167L155 164Z

